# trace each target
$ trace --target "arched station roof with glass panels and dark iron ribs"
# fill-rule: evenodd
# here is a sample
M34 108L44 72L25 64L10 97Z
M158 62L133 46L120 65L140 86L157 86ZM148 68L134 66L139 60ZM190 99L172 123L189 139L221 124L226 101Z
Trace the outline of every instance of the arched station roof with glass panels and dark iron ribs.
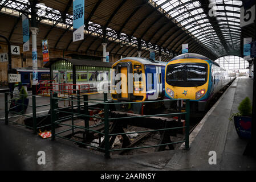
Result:
M1 1L0 9L22 13L31 2ZM143 57L149 57L149 49L155 49L157 55L161 52L162 60L170 60L181 54L182 44L188 43L189 52L215 60L225 55L241 56L242 38L254 37L255 31L254 25L239 27L242 1L87 0L85 39L72 42L72 0L38 2L45 5L36 5L45 13L38 19L42 24L39 36L48 38L54 48L76 52L101 51L101 43L107 41L109 54L137 56L141 46ZM209 15L210 3L216 16Z

